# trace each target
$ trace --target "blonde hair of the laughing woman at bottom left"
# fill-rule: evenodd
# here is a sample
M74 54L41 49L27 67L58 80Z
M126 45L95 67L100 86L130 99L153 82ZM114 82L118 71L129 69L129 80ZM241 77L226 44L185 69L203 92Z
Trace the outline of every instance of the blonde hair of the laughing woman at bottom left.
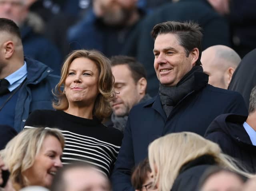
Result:
M8 142L5 149L0 151L0 156L10 171L10 177L16 190L29 185L24 172L34 164L47 136L56 137L60 141L62 150L64 149L65 138L60 130L28 128L16 135Z

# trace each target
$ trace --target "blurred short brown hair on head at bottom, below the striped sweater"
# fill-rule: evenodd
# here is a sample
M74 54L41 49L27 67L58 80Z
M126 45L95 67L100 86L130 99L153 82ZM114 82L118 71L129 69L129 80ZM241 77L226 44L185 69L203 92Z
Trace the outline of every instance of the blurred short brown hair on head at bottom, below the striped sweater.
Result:
M88 168L88 169L94 168L96 171L99 171L99 173L102 173L102 175L104 175L104 173L101 172L101 170L95 165L91 165L90 163L87 163L87 162L80 162L80 161L74 162L72 164L65 165L64 167L58 169L52 181L50 190L65 191L67 185L66 185L66 180L64 179L64 174L70 169L77 169L77 168ZM106 179L108 179L107 175L106 175Z

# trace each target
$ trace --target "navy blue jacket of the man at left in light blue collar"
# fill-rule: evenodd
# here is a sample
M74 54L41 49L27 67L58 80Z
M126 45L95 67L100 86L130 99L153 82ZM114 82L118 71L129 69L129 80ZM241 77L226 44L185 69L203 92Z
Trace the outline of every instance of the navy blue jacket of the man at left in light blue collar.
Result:
M25 57L28 75L25 83L18 91L15 107L14 129L20 132L30 112L37 109L51 109L52 89L59 82L60 77L52 75L52 69L43 63Z

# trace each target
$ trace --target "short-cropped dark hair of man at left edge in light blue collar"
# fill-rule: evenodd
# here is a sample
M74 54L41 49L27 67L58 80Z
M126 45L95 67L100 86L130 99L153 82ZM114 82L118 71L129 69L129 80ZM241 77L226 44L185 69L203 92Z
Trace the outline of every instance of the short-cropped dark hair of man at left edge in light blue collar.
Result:
M19 27L10 19L0 18L0 32L2 31L16 35L19 39L21 39Z

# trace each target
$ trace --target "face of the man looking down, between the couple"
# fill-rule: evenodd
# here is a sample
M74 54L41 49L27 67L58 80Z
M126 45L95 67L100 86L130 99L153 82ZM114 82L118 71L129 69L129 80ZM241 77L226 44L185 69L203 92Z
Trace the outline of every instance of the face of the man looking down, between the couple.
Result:
M127 65L116 65L111 67L111 70L115 77L114 89L117 92L111 107L116 116L126 116L141 99L138 83L134 82Z

